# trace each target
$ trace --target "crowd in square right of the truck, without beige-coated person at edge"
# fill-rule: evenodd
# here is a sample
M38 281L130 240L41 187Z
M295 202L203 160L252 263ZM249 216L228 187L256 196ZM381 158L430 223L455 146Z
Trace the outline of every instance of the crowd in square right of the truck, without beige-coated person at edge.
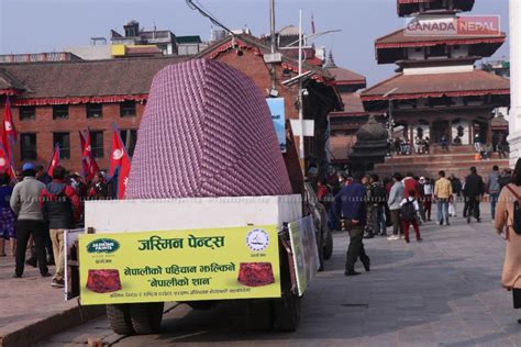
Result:
M337 181L322 180L318 197L330 209L330 228L350 232L345 275L354 276L359 275L354 268L357 258L367 271L370 269L364 238L384 236L388 240L403 239L409 244L412 227L415 240L422 242L420 228L432 221L433 204L437 211L435 223L440 226L451 225L451 219L459 212L467 223L473 220L480 223L480 202L488 194L494 221L499 193L511 177L509 169L499 172L497 166L492 167L487 181L478 175L476 167L470 167L463 179L447 176L443 170L436 179L418 177L413 172L404 176L397 172L385 179L377 175L340 175Z

